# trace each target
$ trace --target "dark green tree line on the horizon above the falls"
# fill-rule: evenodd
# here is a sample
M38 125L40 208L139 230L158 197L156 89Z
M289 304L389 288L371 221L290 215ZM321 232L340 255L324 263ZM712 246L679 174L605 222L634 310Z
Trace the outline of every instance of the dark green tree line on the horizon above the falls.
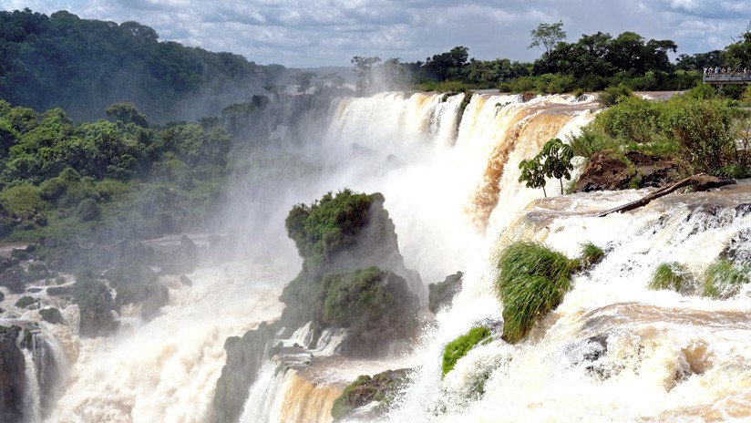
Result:
M596 91L620 84L636 90L679 90L699 83L705 67L751 67L751 27L725 50L682 54L675 63L669 57L678 50L673 40L646 39L634 32L618 36L597 32L569 43L565 41L562 22L558 22L540 24L530 31L530 36L530 48L539 47L542 51L533 62L470 58L466 46L427 57L424 62L355 57L352 62L358 91L366 94L386 85L396 89L499 88L511 92L561 93L576 89ZM386 64L399 72L384 72ZM376 75L390 75L393 81L389 85L381 80L376 85L372 82Z

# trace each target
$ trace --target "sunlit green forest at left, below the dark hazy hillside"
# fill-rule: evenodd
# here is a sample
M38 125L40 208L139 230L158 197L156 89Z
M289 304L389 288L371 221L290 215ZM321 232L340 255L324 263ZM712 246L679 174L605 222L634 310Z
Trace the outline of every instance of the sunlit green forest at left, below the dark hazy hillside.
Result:
M132 104L108 112L125 120L74 124L59 108L0 100L0 128L12 129L0 149L0 237L153 237L214 211L231 172L229 133L149 126Z

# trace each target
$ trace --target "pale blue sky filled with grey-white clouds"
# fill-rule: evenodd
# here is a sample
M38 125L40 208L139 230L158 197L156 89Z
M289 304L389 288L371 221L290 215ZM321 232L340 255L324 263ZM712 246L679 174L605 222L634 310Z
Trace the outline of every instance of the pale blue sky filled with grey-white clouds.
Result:
M568 40L603 31L672 39L679 53L723 48L746 30L751 0L0 0L0 9L151 26L159 39L259 64L349 66L354 56L532 60L530 29L563 22Z

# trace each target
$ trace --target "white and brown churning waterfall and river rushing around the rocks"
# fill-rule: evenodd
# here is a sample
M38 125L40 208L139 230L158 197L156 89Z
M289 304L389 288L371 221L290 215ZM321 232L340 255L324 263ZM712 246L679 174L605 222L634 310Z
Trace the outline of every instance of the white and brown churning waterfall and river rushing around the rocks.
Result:
M647 284L659 263L682 263L701 274L739 233L751 230L751 213L736 208L751 202L751 187L675 194L637 211L594 217L645 191L560 196L558 181L550 181L551 197L542 199L542 191L519 182L521 160L593 119L592 98L522 103L516 96L476 94L462 109L463 100L462 94L388 93L327 106L324 121L316 122L320 136L294 151L292 162L313 163L310 172L298 166L285 173L290 182L275 197L278 212L256 216L265 228L260 233L282 240L273 259L266 251L203 267L189 275L190 288L166 280L170 303L161 315L148 323L134 317L118 335L84 339L67 326L44 324L67 363L44 419L212 421L224 340L280 315L277 298L299 269L284 240L283 213L349 187L384 194L407 267L426 283L463 271L463 289L401 356L341 359L335 354L340 334L331 331L316 346L310 368L266 363L240 421L330 422L334 398L347 383L399 367L415 371L379 421L748 421L749 293L718 301L651 291ZM253 193L247 194L243 201L252 202ZM498 253L520 239L570 256L593 242L606 255L575 276L563 303L525 342L478 346L442 379L443 346L478 322L501 319L492 288ZM263 242L248 249L262 252ZM749 249L747 242L737 248ZM75 320L75 307L63 311ZM308 331L300 328L288 342L307 346ZM594 359L582 361L588 354ZM478 395L473 387L480 380L484 393ZM42 419L38 409L33 415Z

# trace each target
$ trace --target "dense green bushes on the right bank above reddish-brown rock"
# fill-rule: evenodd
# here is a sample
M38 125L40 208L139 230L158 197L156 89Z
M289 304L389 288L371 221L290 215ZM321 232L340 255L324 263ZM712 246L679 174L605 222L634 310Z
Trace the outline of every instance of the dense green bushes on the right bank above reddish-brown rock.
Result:
M624 153L638 151L674 160L686 175L699 172L745 177L751 158L736 140L748 139L747 113L697 87L667 101L621 97L571 139L574 154L589 159L610 150L627 166Z

